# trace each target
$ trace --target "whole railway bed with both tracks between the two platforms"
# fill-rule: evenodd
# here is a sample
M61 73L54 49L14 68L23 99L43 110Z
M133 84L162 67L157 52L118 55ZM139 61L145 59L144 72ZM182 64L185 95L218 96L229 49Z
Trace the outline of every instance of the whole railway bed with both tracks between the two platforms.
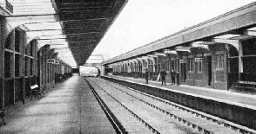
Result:
M118 123L121 124L121 129L127 133L250 133L238 128L237 125L223 124L220 118L196 112L125 86L98 78L85 80L103 99ZM125 114L126 112L128 114ZM132 120L130 124L125 124L127 118L129 121ZM143 131L139 129L138 132L138 128L131 129L135 126L131 124L136 124L136 126L139 124L139 128L146 129Z

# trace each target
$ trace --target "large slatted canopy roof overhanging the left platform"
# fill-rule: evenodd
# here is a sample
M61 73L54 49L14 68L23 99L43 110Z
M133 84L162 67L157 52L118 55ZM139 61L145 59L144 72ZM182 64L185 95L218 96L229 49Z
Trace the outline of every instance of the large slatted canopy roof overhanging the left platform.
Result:
M58 58L71 66L83 66L127 1L8 0L0 4L12 5L4 16L28 20L18 27L30 40L37 39L40 47L50 44Z

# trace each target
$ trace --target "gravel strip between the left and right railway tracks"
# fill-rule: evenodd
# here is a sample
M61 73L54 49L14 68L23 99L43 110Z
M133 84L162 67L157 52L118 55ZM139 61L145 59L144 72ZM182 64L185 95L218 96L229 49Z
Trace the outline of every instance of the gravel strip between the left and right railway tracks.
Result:
M154 110L151 106L145 105L145 103L134 99L126 93L123 93L112 86L110 86L107 81L91 78L91 82L95 82L101 88L113 97L121 101L125 106L127 106L132 112L136 113L138 117L143 118L145 122L151 124L160 133L201 133L201 131L196 131L183 123L176 121L174 118L168 117L163 112L158 112Z

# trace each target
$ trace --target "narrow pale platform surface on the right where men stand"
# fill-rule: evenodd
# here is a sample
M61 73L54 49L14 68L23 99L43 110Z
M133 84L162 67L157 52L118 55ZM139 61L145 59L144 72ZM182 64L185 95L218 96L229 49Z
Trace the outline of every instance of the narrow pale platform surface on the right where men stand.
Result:
M135 79L131 77L123 77L116 75L106 75L107 77L117 78L121 80L130 80L136 83L145 84L145 79ZM219 90L207 87L198 87L198 86L187 86L187 85L171 85L171 83L166 83L166 85L162 86L161 81L152 81L149 80L147 85L164 87L172 90L177 90L185 93L193 93L196 95L202 95L205 97L211 97L215 99L222 99L234 103L239 103L241 105L252 105L256 106L256 95L255 94L246 94L246 93L233 93L232 91L227 90Z

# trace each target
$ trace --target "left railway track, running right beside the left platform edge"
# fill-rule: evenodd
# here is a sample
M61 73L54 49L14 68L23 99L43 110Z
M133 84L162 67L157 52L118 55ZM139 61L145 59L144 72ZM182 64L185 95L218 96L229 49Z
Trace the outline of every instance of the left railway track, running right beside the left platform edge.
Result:
M159 133L151 125L143 123L134 112L131 112L118 99L104 92L100 86L95 85L91 80L85 79L85 81L98 99L99 104L103 107L117 133Z

